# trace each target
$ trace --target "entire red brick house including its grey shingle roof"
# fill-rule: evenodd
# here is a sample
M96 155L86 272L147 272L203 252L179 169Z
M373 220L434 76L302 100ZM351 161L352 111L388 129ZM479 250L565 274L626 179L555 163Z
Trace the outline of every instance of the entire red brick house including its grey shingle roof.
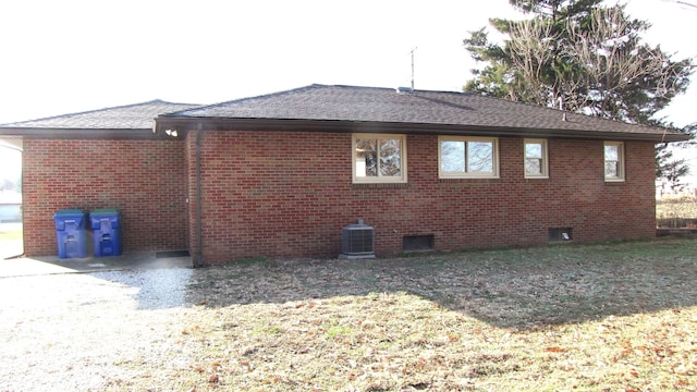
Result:
M78 122L90 113L105 122ZM139 122L115 127L119 113ZM27 255L56 253L56 210L119 208L125 252L188 249L195 265L335 257L359 219L377 255L651 237L655 145L687 138L470 94L325 85L3 135L24 144Z

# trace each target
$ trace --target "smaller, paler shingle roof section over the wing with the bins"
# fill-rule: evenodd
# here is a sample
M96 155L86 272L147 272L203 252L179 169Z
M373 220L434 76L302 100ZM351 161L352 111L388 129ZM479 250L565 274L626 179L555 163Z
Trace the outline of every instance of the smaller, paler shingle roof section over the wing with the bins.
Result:
M197 105L172 103L156 99L143 103L2 124L0 128L151 130L152 120L157 115L193 107Z

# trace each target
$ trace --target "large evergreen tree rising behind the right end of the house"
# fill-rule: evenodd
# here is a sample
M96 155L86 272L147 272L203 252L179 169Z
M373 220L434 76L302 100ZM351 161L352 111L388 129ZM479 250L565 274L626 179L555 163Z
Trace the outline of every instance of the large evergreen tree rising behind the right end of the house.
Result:
M602 0L510 0L524 21L491 19L506 38L490 42L486 28L464 40L485 64L466 91L562 108L604 119L671 126L656 113L687 89L695 66L641 41L650 27ZM687 131L687 130L685 130ZM657 152L657 175L686 174L669 149ZM663 168L660 169L659 168Z

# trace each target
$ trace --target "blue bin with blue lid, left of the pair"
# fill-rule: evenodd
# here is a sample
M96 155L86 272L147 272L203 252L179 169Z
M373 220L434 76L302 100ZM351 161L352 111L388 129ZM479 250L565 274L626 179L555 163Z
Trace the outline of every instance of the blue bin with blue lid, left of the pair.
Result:
M87 257L87 212L64 209L53 215L59 258Z

